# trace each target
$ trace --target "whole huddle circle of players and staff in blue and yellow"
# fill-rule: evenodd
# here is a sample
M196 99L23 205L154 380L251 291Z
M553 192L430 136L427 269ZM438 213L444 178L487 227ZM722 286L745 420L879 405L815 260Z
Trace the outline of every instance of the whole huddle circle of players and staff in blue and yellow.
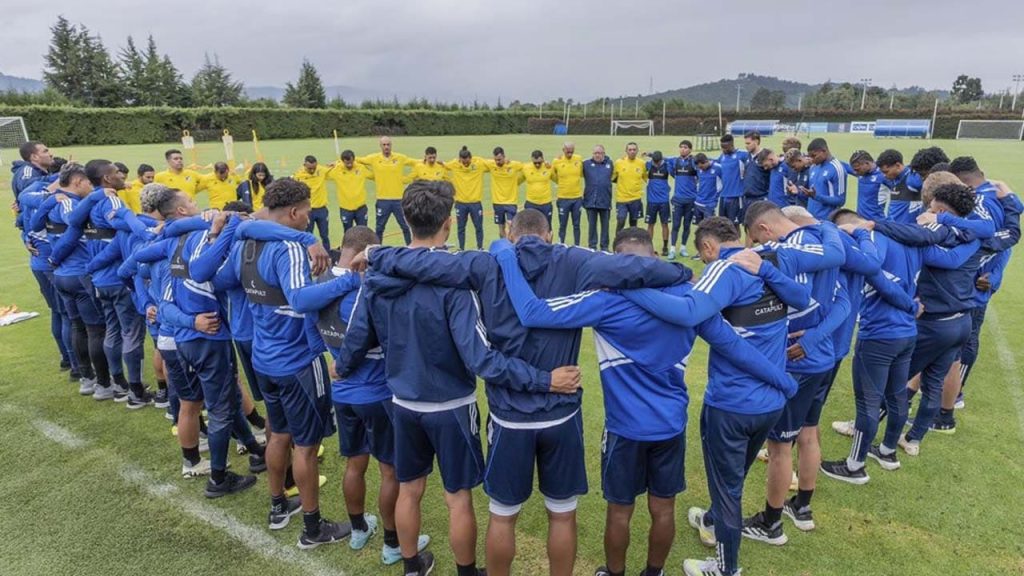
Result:
M62 163L29 142L13 189L61 368L81 395L166 408L181 475L209 477L207 497L251 488L265 471L270 530L301 511L299 547L347 539L353 549L380 530L381 561L400 562L404 574L434 567L420 507L435 460L460 576L484 573L471 490L483 484L489 498L486 573L505 575L535 469L550 573L572 573L577 501L589 486L577 366L588 326L605 409L606 562L596 574L625 574L644 493L651 528L642 574L664 573L685 488L684 373L698 335L711 344L699 421L711 504L691 507L687 523L716 553L683 570L738 573L742 538L785 544L783 516L814 530L818 470L865 484L868 458L896 470L898 449L918 456L926 434L955 430L988 300L1020 239L1017 197L973 158L950 162L938 148L908 165L893 150L878 159L858 151L847 164L821 138L806 155L787 138L779 155L749 133L745 151L724 136L715 160L691 155L684 140L673 158L641 156L631 142L618 160L602 147L583 160L566 143L550 163L540 151L515 162L501 148L493 160L464 148L441 163L432 148L414 162L389 138L380 145L379 154L346 151L330 166L307 157L278 179L264 164L244 177L224 164L201 176L170 151L167 171L143 165L128 184L123 165ZM485 173L501 233L489 251ZM844 207L848 174L857 178L855 210ZM345 228L330 251L328 178ZM366 225L367 179L376 181L376 232ZM196 205L204 190L212 210ZM552 242L555 207L563 243L571 223L580 244L586 210L591 249ZM445 250L453 209L460 249L471 220L479 250ZM646 231L636 228L644 211ZM408 247L381 246L392 215ZM658 221L670 261L652 241ZM687 255L691 223L694 257L708 264L696 279L671 261ZM146 331L156 393L142 383ZM851 449L825 459L818 420L851 353L855 418L831 426L852 437ZM264 402L265 417L253 400ZM324 519L318 504L322 441L335 430L346 457L343 523ZM228 469L232 439L248 454L248 475ZM743 484L759 451L765 505L744 518ZM378 513L366 504L371 455Z

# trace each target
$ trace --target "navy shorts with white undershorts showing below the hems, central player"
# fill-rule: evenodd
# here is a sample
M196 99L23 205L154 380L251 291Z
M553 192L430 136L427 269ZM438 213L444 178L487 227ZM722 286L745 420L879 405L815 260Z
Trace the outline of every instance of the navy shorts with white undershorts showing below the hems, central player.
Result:
M534 491L535 463L545 497L565 500L587 493L582 411L558 425L535 429L506 427L487 417L487 496L507 506L525 502Z

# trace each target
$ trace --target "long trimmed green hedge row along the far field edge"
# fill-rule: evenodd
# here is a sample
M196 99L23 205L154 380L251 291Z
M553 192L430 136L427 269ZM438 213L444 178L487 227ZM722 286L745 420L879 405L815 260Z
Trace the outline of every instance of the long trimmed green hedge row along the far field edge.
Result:
M781 122L872 121L880 113L850 111L773 111L727 113L723 121L771 118ZM931 118L931 110L899 111L897 118ZM334 130L345 136L380 134L550 134L557 118L531 118L530 113L438 112L404 110L289 110L243 108L129 108L89 109L70 107L0 107L0 116L25 118L29 135L50 146L130 145L175 141L182 130L197 140L214 140L224 129L237 137L248 137L255 129L262 139L329 137ZM934 127L937 138L952 138L962 119L1012 120L1016 115L942 111ZM714 133L718 116L678 115L667 118L665 133ZM654 129L662 133L662 119ZM608 132L607 118L570 119L577 134Z

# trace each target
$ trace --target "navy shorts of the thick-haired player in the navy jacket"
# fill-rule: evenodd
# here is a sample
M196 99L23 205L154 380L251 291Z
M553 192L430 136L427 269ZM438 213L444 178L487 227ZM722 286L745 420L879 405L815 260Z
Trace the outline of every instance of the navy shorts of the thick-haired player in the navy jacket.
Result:
M392 415L398 482L429 475L435 454L445 492L454 494L483 482L480 413L475 402L441 412L416 412L395 404Z

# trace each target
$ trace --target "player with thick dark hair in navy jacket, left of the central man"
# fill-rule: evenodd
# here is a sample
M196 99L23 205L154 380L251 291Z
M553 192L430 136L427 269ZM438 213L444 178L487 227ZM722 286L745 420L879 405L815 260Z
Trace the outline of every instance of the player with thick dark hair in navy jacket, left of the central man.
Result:
M453 196L447 182L410 184L402 210L414 233L413 248L444 246ZM404 573L426 575L433 570L432 554L417 553L417 545L420 503L436 454L459 575L475 576L471 489L481 482L484 468L474 374L512 389L573 395L579 370L543 372L493 349L477 296L468 290L370 273L365 293L356 310L366 306L367 328L354 333L349 328L338 371L347 376L379 340L394 395L395 472L400 483L395 522ZM426 349L430 354L422 354Z

